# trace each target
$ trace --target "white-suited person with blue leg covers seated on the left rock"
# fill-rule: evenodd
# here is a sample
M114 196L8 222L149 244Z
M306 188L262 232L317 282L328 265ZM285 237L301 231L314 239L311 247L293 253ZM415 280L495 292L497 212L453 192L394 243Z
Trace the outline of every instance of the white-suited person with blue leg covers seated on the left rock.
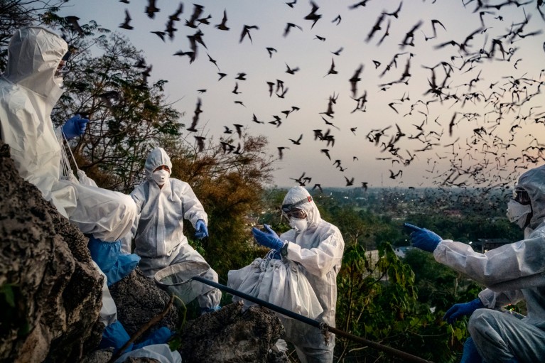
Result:
M107 283L119 281L138 264L138 256L119 255L119 239L130 232L136 205L129 195L61 176L63 134L67 139L78 136L89 121L76 116L62 127L53 128L50 113L63 93L60 68L66 55L68 44L46 28L21 28L14 33L6 71L0 77L0 136L10 146L19 175L36 185L45 200L90 236L95 267L105 276L100 321L106 327L101 345L119 348L129 336L117 321L117 308ZM164 343L171 333L163 327L129 349Z

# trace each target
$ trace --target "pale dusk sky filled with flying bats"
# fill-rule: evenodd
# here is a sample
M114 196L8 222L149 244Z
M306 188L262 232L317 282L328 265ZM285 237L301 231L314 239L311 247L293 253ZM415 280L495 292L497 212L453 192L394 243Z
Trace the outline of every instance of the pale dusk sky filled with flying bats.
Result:
M168 102L185 112L186 127L200 99L198 131L183 129L189 143L195 135L215 142L231 136L237 146L225 126L242 124L269 138L275 158L286 147L274 163L276 185L296 185L305 173L308 187L323 188L352 178L353 186L369 187L512 186L525 168L543 163L545 21L536 1L481 2L487 7L316 0L313 11L303 0L183 1L177 31L165 41L151 31L166 30L179 1L155 1L153 18L141 0L70 1L61 15L95 20L143 50L151 81L168 80ZM192 28L185 23L195 4L203 9ZM125 11L132 30L119 28ZM217 28L224 11L229 30ZM242 38L244 26L257 28ZM173 55L190 51L188 36L198 31L205 46L197 43L192 63ZM245 80L235 79L239 73ZM315 139L314 130L325 137ZM300 144L290 140L301 135Z

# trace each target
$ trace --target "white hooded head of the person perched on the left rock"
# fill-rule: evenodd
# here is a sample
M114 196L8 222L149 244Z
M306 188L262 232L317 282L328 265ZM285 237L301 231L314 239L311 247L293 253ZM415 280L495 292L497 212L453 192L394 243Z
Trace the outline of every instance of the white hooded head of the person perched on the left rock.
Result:
M46 28L18 29L9 42L4 77L43 97L60 97L62 77L55 77L55 72L67 52L65 40Z

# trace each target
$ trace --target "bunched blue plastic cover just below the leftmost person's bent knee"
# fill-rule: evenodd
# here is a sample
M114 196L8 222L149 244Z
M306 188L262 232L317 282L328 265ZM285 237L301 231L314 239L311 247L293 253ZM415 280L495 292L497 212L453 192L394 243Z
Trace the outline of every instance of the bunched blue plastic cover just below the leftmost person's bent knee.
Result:
M129 275L140 261L136 254L121 254L121 241L104 242L102 239L90 237L87 244L91 258L108 278L108 286Z

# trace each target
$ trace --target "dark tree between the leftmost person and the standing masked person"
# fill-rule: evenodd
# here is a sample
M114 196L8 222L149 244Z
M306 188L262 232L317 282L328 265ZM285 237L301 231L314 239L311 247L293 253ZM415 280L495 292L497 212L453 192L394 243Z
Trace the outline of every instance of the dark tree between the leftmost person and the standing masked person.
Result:
M102 188L128 193L140 183L149 151L180 134L181 113L166 104L166 81L148 84L144 58L126 38L112 33L94 42L103 54L75 55L52 118L62 124L73 114L88 117L87 131L73 148L78 166Z

